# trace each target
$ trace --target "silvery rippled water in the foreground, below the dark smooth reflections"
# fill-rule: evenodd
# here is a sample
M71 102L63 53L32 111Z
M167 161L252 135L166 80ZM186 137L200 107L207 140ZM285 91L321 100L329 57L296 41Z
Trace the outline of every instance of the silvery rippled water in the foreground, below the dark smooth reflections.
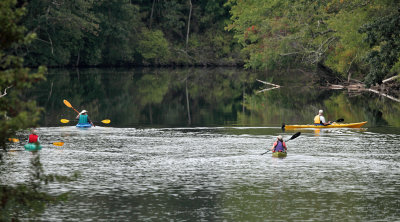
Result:
M37 220L317 220L400 218L399 134L302 130L284 159L260 155L277 127L40 128L46 173L80 171ZM18 149L15 145L15 149ZM6 182L23 182L30 152L11 152Z

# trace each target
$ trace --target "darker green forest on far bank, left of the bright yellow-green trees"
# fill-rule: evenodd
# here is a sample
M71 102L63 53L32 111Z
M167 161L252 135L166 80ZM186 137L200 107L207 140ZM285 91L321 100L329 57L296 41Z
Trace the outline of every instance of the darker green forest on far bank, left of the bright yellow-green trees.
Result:
M226 1L29 1L36 66L235 65Z

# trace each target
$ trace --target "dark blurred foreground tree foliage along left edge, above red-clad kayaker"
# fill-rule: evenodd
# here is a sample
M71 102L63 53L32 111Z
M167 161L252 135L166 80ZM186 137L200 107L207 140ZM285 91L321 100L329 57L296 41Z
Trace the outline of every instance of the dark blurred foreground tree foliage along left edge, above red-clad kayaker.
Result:
M25 98L23 91L43 80L46 71L41 66L31 72L17 54L36 35L26 34L26 28L19 25L25 8L17 8L16 3L16 0L0 2L0 147L4 150L8 138L18 130L36 126L41 109L35 101Z

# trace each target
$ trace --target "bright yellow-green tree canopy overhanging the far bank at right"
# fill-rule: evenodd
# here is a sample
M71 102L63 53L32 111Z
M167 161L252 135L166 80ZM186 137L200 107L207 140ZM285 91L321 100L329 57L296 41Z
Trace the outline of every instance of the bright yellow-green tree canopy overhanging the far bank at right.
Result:
M369 84L399 63L399 1L229 0L231 23L246 67L329 67ZM368 73L368 74L367 74Z

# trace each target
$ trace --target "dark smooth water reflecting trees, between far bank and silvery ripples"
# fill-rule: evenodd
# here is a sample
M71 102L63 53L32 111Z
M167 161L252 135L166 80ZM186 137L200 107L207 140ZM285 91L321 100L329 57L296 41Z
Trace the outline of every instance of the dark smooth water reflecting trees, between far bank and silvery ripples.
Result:
M310 84L313 78L296 71L227 68L51 69L47 82L28 96L46 109L42 126L73 119L75 113L63 99L88 110L94 120L111 119L115 127L307 124L319 109L329 120L400 126L399 103L368 93L354 96L316 88ZM259 79L282 87L258 93L265 88Z

